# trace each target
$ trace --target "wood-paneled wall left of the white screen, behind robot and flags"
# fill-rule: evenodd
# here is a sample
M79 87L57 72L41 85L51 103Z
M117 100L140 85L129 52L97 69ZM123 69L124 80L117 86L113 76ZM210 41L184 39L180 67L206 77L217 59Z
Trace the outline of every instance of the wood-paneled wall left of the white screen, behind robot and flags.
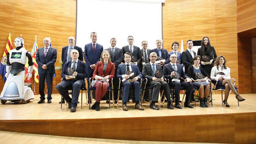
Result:
M51 37L52 47L56 48L58 53L55 66L60 66L61 48L68 44L69 36L75 37L76 34L76 0L3 0L0 9L1 57L9 33L11 33L12 43L22 34L28 51L33 47L35 35L37 35L39 47L44 46L42 40L45 37ZM15 48L14 43L13 47ZM55 87L60 80L60 72L56 71L53 93L57 93ZM3 80L0 78L0 87L3 88L3 85ZM36 90L38 92L38 84Z

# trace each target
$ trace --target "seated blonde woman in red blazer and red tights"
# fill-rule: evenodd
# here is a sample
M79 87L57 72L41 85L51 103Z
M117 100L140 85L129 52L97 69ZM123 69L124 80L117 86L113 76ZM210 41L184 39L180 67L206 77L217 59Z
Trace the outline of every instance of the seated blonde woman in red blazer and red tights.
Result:
M107 92L107 88L111 84L111 79L114 77L115 74L115 65L111 62L111 57L109 51L102 51L100 56L100 61L97 63L95 70L93 72L93 81L91 83L91 86L96 88L96 102L93 104L91 109L95 109L96 111L99 111L99 103L102 97ZM102 77L99 79L98 77ZM109 82L107 82L107 80Z

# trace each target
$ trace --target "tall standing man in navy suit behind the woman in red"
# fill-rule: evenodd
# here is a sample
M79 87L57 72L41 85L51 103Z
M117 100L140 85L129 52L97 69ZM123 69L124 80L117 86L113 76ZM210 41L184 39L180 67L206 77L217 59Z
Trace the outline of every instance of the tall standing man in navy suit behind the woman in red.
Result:
M97 43L97 33L91 33L92 42L84 46L84 60L87 65L87 83L89 89L89 79L93 76L93 71L95 70L96 64L100 61L100 55L103 51L103 46ZM90 97L90 92L88 90L88 97Z

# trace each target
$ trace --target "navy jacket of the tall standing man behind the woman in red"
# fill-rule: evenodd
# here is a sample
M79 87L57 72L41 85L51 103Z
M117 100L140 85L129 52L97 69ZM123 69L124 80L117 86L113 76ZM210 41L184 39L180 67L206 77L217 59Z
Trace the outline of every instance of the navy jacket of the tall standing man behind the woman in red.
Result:
M90 68L90 65L92 64L96 65L97 62L100 61L100 55L102 51L103 51L103 46L98 43L95 47L95 51L93 51L92 43L88 43L84 46L84 60L88 68Z

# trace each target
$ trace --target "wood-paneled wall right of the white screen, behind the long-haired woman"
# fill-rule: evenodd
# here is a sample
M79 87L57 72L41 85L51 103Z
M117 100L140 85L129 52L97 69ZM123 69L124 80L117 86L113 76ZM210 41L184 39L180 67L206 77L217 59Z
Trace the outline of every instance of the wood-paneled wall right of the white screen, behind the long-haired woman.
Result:
M231 77L237 79L237 1L166 0L163 5L163 46L174 41L202 40L208 36L217 55L225 56Z

